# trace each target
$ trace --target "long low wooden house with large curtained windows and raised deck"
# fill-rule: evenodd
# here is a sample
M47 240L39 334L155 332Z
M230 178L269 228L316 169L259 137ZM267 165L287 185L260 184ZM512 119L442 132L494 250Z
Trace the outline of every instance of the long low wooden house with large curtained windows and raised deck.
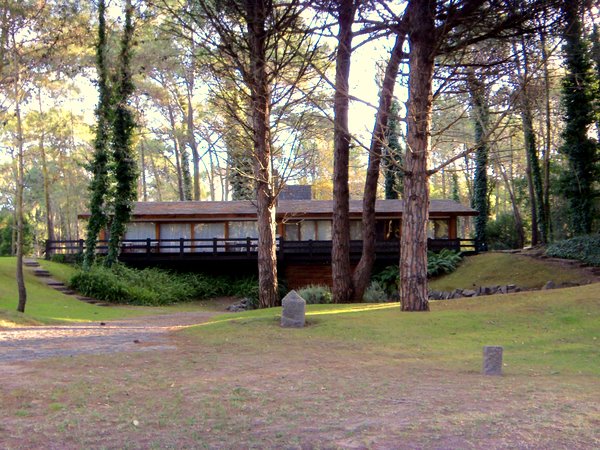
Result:
M377 264L397 264L400 252L402 200L377 200ZM331 200L286 200L277 204L279 273L295 288L331 279ZM362 201L350 201L350 256L362 252ZM458 235L458 221L477 215L451 200L432 200L429 247L475 251L473 240ZM89 214L79 216L87 219ZM102 236L103 239L106 236ZM225 273L256 271L256 206L251 201L138 202L123 241L120 260L136 266L162 265ZM98 251L105 251L101 239ZM76 253L83 241L49 242L47 256Z

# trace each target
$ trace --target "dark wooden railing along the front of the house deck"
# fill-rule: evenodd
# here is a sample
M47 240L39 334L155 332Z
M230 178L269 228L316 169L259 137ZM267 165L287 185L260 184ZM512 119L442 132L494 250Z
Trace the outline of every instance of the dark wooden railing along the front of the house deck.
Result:
M440 251L443 248L461 251L463 253L476 253L478 248L474 239L428 239L429 250ZM146 255L148 258L163 255L184 257L185 255L199 257L228 257L240 259L256 257L258 239L256 238L213 238L213 239L126 239L122 242L122 259L139 258ZM279 258L327 258L331 255L331 241L286 241L277 239L277 253ZM98 241L96 251L106 253L108 241ZM46 242L46 257L52 255L78 255L85 250L85 241L62 240ZM400 252L400 243L396 240L377 241L375 251L378 257L394 257ZM360 256L362 241L350 242L350 254Z

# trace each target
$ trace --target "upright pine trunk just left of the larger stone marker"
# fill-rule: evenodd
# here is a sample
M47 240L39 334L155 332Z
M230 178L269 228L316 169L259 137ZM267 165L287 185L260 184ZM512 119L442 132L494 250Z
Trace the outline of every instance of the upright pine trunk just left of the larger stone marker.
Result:
M271 95L266 67L265 22L273 5L269 0L246 0L251 65L251 110L254 137L254 176L258 219L259 304L279 303L275 242L275 196L271 166Z

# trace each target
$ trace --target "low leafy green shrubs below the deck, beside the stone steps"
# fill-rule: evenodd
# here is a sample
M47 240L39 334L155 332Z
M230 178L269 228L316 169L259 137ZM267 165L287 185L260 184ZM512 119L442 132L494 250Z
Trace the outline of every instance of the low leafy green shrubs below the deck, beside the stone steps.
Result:
M88 271L77 272L69 284L83 295L113 303L157 306L220 296L243 296L258 303L254 278L232 281L157 268L139 270L122 264L112 268L94 265Z

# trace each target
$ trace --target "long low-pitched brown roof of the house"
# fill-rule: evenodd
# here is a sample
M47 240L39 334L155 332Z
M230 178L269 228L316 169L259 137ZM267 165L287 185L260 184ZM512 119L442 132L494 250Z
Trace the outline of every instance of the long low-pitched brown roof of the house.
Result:
M402 200L377 200L375 214L379 217L399 217L403 211ZM279 200L277 217L309 218L331 217L333 200ZM362 200L350 201L350 215L360 217ZM432 217L476 216L477 211L453 200L431 200L429 214ZM89 213L80 214L88 218ZM133 220L196 220L196 219L254 219L256 205L251 201L187 201L187 202L136 202Z

